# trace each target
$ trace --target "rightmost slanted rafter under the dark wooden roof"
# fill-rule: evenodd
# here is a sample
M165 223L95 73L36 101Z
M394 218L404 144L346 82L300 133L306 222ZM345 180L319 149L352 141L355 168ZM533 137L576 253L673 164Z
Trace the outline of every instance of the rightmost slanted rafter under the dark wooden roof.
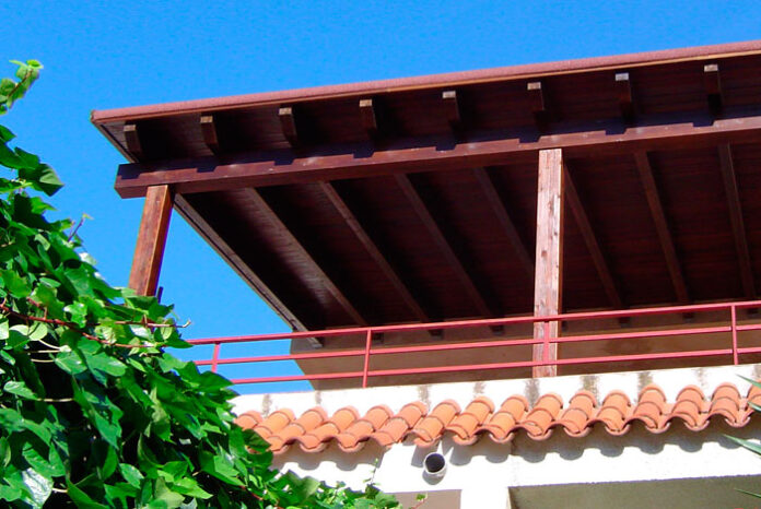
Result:
M728 144L718 146L718 159L724 180L724 190L727 194L727 205L729 208L729 221L731 232L735 237L735 249L737 250L737 261L740 268L740 280L742 292L748 299L756 299L756 283L753 281L753 270L750 263L750 251L746 237L745 221L742 218L742 208L740 206L740 193L737 188L737 176L735 175L735 164L731 157L731 146Z

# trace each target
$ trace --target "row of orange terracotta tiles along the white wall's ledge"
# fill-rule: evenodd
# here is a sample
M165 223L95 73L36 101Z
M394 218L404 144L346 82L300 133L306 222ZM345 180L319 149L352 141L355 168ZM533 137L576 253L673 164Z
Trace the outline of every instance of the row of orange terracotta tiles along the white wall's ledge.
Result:
M346 406L328 418L325 410L316 406L298 418L288 409L266 417L246 412L236 423L256 430L276 453L294 442L305 451L317 452L333 441L341 450L351 452L371 440L387 448L408 436L414 437L418 446L429 447L445 435L460 445L471 445L483 435L495 442L505 442L520 430L534 440L543 440L554 428L562 428L572 437L583 437L596 424L610 435L625 434L632 423L642 423L649 433L663 433L675 422L700 431L712 418L719 417L730 426L740 427L753 413L751 402L761 405L761 389L751 387L742 396L734 384L723 383L706 399L700 388L688 386L669 403L664 391L651 384L640 392L635 402L621 391L612 391L598 403L592 392L582 390L567 404L553 393L539 396L532 407L522 395L511 395L499 407L489 398L478 396L465 410L446 400L429 412L423 402L413 401L396 414L386 405L377 405L360 416L356 410Z

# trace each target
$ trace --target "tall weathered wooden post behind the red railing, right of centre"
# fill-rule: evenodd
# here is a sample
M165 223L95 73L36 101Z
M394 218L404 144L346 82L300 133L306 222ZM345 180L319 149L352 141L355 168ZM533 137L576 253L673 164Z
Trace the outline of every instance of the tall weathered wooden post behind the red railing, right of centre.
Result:
M563 153L561 149L539 151L537 192L537 253L534 283L534 316L557 315L563 294ZM534 338L558 338L559 323L534 324ZM534 360L554 360L558 345L534 345ZM537 366L534 377L553 377L557 366Z

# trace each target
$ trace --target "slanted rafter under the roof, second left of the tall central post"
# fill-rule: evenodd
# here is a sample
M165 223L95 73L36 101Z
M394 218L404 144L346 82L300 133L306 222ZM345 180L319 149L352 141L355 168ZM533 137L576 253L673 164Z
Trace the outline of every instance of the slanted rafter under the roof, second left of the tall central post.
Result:
M481 296L481 292L479 292L479 289L476 287L472 277L470 274L468 274L468 271L465 269L463 262L452 249L452 246L449 246L449 242L446 240L446 237L429 212L425 203L423 203L420 194L418 194L414 186L412 186L410 179L407 177L407 175L396 175L395 178L408 202L410 205L412 205L415 215L420 222L423 223L423 226L425 226L425 229L431 235L434 244L438 247L438 250L444 256L444 259L455 272L457 280L465 289L473 308L476 308L478 313L482 317L493 317L495 313L489 307L489 305L487 305L487 301Z

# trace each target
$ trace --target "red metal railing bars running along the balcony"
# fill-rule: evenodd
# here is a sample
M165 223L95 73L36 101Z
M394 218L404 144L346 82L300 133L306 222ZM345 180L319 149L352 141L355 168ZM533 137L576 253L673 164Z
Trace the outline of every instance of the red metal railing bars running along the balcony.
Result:
M350 379L356 378L361 379L362 387L367 387L367 380L371 377L390 377L390 376L401 376L401 375L423 375L423 374L444 374L453 371L475 371L475 370L487 370L487 369L510 369L510 368L534 368L539 366L569 366L569 365L584 365L584 364L598 364L598 363L620 363L620 362L647 362L647 360L659 360L659 359L679 359L679 358L698 358L698 357L716 357L716 356L727 356L731 358L731 362L727 359L727 364L739 364L740 356L747 354L758 354L761 353L761 346L750 346L740 347L738 345L738 333L746 331L758 331L761 330L761 323L738 323L737 311L739 309L758 309L761 308L761 300L753 301L741 301L741 303L721 303L721 304L705 304L705 305L694 305L694 306L670 306L670 307L658 307L658 308L646 308L646 309L625 309L616 311L595 311L595 312L577 312L577 313L562 313L546 317L512 317L512 318L495 318L485 320L460 320L460 321L447 321L437 323L414 323L414 324L403 324L403 325L383 325L383 327L366 327L366 328L347 328L347 329L331 329L324 331L306 331L306 332L288 332L288 333L277 333L277 334L260 334L260 335L243 335L243 336L231 336L231 338L210 338L210 339L199 339L189 340L188 342L194 345L214 345L212 358L209 360L197 360L196 364L199 366L211 366L212 371L216 371L221 365L231 364L253 364L253 363L266 363L266 362L282 362L282 360L307 360L307 359L327 359L327 358L340 358L340 357L363 357L362 370L355 371L340 371L340 372L318 372L309 375L288 375L288 376L276 376L276 377L254 377L254 378L237 378L233 379L234 383L262 383L262 382L286 382L286 381L298 381L298 380L328 380L328 379ZM728 320L723 318L711 318L713 322L718 322L721 324L706 324L704 327L679 327L677 325L666 325L669 329L654 329L645 331L631 331L625 332L623 330L608 333L596 333L596 334L575 334L575 335L561 335L560 338L549 338L550 323L554 321L559 322L573 322L573 321L594 321L594 320L611 320L611 319L633 319L639 317L652 317L652 316L695 316L696 313L714 312L721 313L722 311L728 311ZM728 323L725 323L728 321ZM752 320L749 320L752 321ZM761 321L761 319L756 320ZM495 327L508 327L508 325L520 325L529 323L542 323L543 338L518 338L518 339L490 339L482 341L470 341L460 340L452 341L448 343L436 342L432 344L415 344L409 346L383 346L373 345L373 339L378 334L390 334L390 333L411 333L418 331L443 331L452 329L472 329L472 328L495 328ZM663 325L659 325L663 327ZM675 352L657 352L647 354L625 354L625 355L599 355L594 357L572 357L572 358L549 358L548 352L551 344L564 344L564 343L584 343L584 342L597 342L597 341L634 341L642 339L654 339L654 338L672 338L672 336L693 336L699 334L728 334L729 341L726 347L714 348L714 350L679 350ZM284 355L259 355L249 357L220 357L220 350L222 345L226 344L239 344L239 343L259 343L276 340L291 340L291 341L304 341L314 338L327 339L327 338L341 338L341 340L352 341L356 343L351 336L362 335L364 336L364 347L362 348L349 348L349 350L330 350L326 348L324 351L315 352L304 352ZM429 367L418 367L418 368L394 368L394 369L371 369L371 360L374 357L390 354L411 354L411 353L425 353L425 352L442 352L442 351L454 351L454 350L472 350L472 348L494 348L494 347L511 347L511 346L525 346L525 345L536 345L543 344L543 355L540 359L530 360L515 360L515 362L503 362L503 363L481 363L481 364L461 364L461 365L445 365L445 366L429 366Z

